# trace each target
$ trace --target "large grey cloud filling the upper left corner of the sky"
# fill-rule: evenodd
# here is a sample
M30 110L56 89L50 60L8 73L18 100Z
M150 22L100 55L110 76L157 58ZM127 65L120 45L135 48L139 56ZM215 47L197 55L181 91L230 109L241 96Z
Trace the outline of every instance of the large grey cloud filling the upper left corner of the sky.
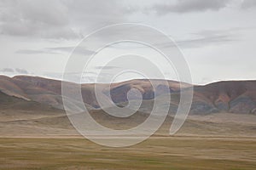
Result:
M117 23L125 16L120 3L92 0L0 1L0 34L50 39L83 37L89 28Z

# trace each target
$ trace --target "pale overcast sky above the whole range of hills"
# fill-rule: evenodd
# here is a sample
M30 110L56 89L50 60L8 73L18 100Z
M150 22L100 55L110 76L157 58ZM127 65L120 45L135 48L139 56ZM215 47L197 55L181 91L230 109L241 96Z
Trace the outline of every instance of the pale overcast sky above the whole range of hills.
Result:
M84 37L104 26L136 23L172 38L186 59L195 84L255 80L255 19L255 0L0 0L0 74L61 79L74 48ZM102 34L94 43L100 44L115 34ZM147 36L143 32L137 34ZM88 56L95 52L88 47L76 50ZM97 72L104 66L102 61L122 53L144 54L155 63L162 62L160 54L142 44L113 44L90 64L90 75L84 76L84 82L95 82ZM134 65L132 60L126 60L126 65ZM150 66L136 63L150 70ZM122 66L118 62L105 66L103 77L120 71ZM174 68L160 67L168 79L178 78ZM115 80L132 78L140 76L123 74ZM157 77L152 73L151 78Z

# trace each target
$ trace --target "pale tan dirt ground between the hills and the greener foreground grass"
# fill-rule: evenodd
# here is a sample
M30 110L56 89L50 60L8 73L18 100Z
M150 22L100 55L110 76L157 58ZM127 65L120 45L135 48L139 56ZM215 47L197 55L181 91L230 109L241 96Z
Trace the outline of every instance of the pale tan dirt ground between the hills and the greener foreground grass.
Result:
M107 121L106 124L110 125L109 127L113 126L113 122ZM167 119L155 136L169 136L171 124L172 118ZM0 112L0 137L59 138L61 136L80 137L65 113L45 115L30 111ZM231 113L189 116L175 136L256 138L256 116Z

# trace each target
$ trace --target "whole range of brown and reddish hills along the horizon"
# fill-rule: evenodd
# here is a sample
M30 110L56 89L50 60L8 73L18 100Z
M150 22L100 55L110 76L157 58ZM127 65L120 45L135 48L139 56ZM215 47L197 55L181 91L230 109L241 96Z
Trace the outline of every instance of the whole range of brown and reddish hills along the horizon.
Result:
M154 88L148 80L131 80L111 84L98 84L103 100L110 98L119 106L127 105L127 92L136 88L143 95L143 105L140 111L150 112L154 98L162 101L162 108L170 112L177 110L179 103L180 88L190 88L187 83L168 81L166 85L163 80L151 80L157 82L159 94L154 93ZM72 86L74 83L70 82ZM99 104L94 93L95 84L82 84L81 92L84 103L89 110L99 109ZM229 81L214 82L205 86L194 86L194 99L190 114L211 114L217 112L231 112L238 114L256 114L256 81ZM72 90L72 88L71 88ZM110 96L108 91L110 90ZM171 91L172 105L166 105L166 90ZM61 98L61 81L43 77L5 77L0 76L0 106L27 105L25 108L33 108L31 105L47 105L63 109ZM139 99L137 94L131 96L133 101ZM26 102L25 102L26 101ZM5 102L5 103L4 103ZM22 103L23 102L23 103ZM75 101L71 101L75 102ZM26 104L25 104L26 103ZM106 102L107 103L107 102ZM108 106L108 105L107 105ZM38 107L38 106L37 106Z

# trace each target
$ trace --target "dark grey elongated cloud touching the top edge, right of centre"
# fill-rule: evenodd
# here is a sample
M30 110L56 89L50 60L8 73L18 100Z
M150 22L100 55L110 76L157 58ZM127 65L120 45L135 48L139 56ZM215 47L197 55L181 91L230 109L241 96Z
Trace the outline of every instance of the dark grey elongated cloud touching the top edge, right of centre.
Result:
M219 10L227 6L230 0L179 0L176 3L155 4L152 8L157 14L189 13L207 10Z

